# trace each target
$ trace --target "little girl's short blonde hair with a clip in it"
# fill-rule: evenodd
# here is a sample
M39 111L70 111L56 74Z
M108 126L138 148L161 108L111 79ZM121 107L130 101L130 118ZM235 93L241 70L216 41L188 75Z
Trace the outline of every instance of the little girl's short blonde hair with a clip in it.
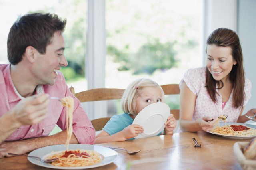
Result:
M137 79L128 85L122 96L121 107L125 113L137 115L136 100L144 87L159 87L162 92L162 102L164 102L164 91L158 83L146 78Z

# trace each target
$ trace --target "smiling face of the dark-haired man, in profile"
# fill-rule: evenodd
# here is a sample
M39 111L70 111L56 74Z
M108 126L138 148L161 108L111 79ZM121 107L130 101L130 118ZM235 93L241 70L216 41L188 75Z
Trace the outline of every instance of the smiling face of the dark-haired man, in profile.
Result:
M38 85L54 85L60 67L66 67L68 62L64 56L65 41L60 31L54 33L51 43L46 46L45 54L38 51L33 67L34 78Z

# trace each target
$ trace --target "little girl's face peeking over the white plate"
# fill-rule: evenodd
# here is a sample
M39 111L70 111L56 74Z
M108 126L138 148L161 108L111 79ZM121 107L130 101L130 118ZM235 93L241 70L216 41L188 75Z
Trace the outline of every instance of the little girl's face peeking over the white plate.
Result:
M136 114L140 113L144 107L162 102L162 92L159 87L144 87L136 100Z

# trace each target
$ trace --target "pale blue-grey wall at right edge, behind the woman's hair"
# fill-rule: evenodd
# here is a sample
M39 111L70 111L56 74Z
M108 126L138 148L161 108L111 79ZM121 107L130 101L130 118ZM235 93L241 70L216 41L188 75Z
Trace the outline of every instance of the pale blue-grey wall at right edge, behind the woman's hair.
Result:
M238 35L244 56L245 77L252 82L252 97L244 112L256 108L256 1L238 1Z

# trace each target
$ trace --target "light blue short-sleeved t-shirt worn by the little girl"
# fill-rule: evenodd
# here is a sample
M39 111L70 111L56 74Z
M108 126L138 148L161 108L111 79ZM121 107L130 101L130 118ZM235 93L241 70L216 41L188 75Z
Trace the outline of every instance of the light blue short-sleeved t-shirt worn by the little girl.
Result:
M102 130L107 132L109 135L115 134L117 132L122 131L124 128L132 125L134 120L130 117L129 113L123 113L120 115L114 115L110 118L108 123L104 126ZM158 134L160 135L161 132ZM134 138L130 138L128 140L132 140Z

